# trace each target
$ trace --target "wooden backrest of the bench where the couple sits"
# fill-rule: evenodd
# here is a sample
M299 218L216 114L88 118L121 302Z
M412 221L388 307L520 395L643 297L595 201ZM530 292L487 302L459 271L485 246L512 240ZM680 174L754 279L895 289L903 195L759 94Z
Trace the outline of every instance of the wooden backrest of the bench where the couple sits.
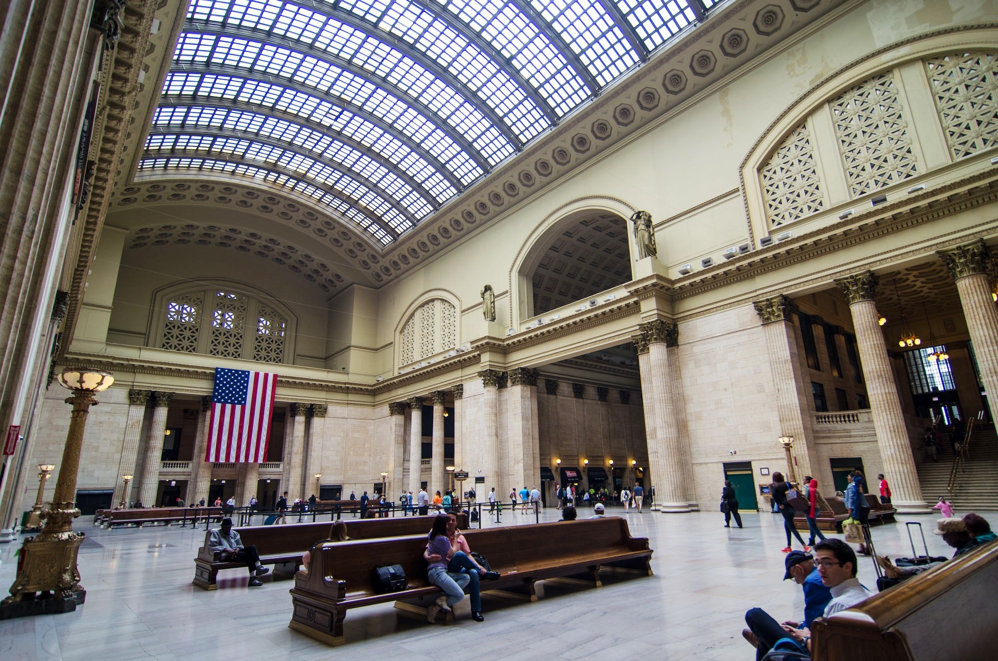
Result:
M473 551L488 557L492 569L507 574L525 572L539 565L559 566L570 559L606 557L611 549L648 550L648 539L631 537L620 517L557 521L469 530L464 533ZM295 589L335 593L344 581L346 596L373 591L373 569L399 564L410 587L427 585L423 550L428 534L390 539L326 542L312 549L307 575L295 576Z

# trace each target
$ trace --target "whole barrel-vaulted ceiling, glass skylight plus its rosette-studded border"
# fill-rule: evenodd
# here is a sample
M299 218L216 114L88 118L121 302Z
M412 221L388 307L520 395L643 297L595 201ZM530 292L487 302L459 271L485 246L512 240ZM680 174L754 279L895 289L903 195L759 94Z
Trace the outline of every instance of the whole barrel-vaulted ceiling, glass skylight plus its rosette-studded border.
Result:
M378 286L840 2L190 0L114 208L270 216Z

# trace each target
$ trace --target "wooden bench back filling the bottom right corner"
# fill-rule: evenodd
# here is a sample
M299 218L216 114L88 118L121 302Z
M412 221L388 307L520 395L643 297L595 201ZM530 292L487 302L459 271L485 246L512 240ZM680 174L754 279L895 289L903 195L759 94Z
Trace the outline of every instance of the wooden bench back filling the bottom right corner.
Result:
M994 659L998 541L811 624L814 661Z

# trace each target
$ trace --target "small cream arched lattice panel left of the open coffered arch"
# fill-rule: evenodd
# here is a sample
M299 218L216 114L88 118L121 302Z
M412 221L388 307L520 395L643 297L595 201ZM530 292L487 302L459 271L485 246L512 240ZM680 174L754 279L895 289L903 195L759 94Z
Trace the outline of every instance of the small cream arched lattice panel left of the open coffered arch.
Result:
M461 302L451 292L426 292L406 309L395 328L397 369L435 360L461 342Z

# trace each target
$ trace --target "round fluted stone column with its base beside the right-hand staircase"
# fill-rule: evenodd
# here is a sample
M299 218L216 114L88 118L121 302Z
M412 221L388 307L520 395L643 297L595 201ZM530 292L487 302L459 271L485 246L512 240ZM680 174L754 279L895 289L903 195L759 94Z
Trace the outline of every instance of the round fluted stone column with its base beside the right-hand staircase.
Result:
M852 313L852 326L856 331L859 361L866 380L873 428L883 460L883 473L890 482L891 502L902 514L920 514L931 511L922 499L922 488L911 453L911 440L904 425L901 401L897 396L890 369L890 358L883 342L883 333L877 324L877 277L868 271L859 276L849 276L835 281L845 295ZM876 474L878 470L870 470ZM868 476L867 476L868 477ZM867 484L872 488L872 482Z

